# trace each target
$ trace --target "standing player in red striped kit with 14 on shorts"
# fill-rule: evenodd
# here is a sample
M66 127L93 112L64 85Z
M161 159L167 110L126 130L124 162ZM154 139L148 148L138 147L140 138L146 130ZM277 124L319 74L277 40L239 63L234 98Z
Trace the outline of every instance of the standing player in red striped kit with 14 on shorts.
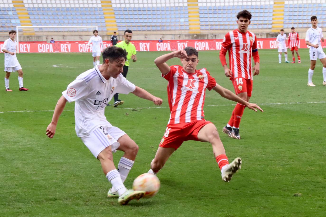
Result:
M224 73L230 77L237 96L249 102L253 75L259 74L257 38L255 34L247 31L251 19L249 11L240 11L237 14L237 19L238 29L230 31L224 36L219 58ZM229 51L230 69L225 59L227 51ZM251 56L255 62L254 73L251 69ZM228 124L223 128L223 132L234 139L240 139L239 127L245 107L244 104L238 102Z

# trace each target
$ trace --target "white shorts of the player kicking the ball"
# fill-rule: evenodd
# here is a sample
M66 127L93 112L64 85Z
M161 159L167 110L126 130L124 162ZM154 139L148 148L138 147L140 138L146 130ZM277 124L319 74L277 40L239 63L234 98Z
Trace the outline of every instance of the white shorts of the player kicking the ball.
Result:
M116 152L120 143L118 139L126 133L117 127L99 127L88 136L81 137L84 144L97 158L99 153L111 145L111 151Z

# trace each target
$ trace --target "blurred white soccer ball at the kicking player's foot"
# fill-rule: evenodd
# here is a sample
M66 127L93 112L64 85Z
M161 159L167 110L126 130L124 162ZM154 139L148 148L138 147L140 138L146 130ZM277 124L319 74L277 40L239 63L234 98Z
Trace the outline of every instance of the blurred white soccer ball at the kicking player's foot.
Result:
M160 180L156 175L152 173L144 173L134 180L132 188L137 191L146 191L144 198L150 198L156 195L160 189L160 185Z

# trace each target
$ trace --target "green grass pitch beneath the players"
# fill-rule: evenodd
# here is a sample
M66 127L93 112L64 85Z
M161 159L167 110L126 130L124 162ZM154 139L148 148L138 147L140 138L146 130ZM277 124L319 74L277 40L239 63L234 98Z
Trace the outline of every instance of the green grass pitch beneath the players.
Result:
M206 120L216 125L229 159L243 159L230 183L222 181L209 143L187 141L159 172L159 193L127 206L106 197L111 184L75 134L74 103L67 103L54 138L45 135L61 92L93 67L91 54L19 54L24 87L30 90L18 90L16 73L10 77L12 92L5 92L3 78L0 82L0 216L324 216L326 87L320 61L316 87L307 87L308 49L299 51L301 64L284 63L284 56L279 64L277 50L259 50L260 74L251 102L264 113L244 111L241 140L222 133L235 103L206 91ZM149 170L169 119L167 81L154 64L163 53L138 52L127 75L161 97L161 108L133 94L121 94L125 103L117 108L106 107L112 125L140 147L125 182L129 188ZM234 91L218 51L200 51L199 60L198 68L206 67ZM116 164L121 156L114 154Z

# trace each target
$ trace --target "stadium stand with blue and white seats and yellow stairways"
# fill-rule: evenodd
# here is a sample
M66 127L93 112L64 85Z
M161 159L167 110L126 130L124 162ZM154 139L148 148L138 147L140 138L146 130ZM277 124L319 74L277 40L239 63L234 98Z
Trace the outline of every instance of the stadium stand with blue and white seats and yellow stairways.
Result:
M101 32L139 34L219 34L237 28L236 14L249 10L254 32L310 26L316 15L322 27L326 0L1 0L0 32L15 26L97 25Z

